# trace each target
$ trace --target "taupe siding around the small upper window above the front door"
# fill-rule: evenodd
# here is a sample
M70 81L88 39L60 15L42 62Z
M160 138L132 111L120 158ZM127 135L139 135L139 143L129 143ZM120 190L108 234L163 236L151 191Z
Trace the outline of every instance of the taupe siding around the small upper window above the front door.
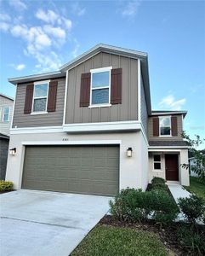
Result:
M149 132L149 140L150 141L181 141L183 138L181 137L182 132L182 115L176 115L177 116L177 127L178 127L178 136L174 137L154 137L153 136L153 117L149 117L148 120L148 132ZM156 117L156 116L155 116Z

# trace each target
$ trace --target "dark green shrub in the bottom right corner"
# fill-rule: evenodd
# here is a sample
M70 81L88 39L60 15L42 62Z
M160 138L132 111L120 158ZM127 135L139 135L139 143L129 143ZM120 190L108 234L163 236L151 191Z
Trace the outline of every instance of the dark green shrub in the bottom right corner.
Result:
M191 255L205 255L205 240L199 230L193 227L180 227L177 236Z

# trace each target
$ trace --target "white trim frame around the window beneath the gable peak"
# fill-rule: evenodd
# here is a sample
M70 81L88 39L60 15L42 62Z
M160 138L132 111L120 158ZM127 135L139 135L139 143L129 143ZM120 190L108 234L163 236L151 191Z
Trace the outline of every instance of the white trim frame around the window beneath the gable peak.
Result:
M94 68L90 69L91 73L91 79L90 79L90 96L89 96L89 106L88 108L102 108L102 107L111 107L111 69L112 67L101 67L101 68ZM105 87L97 87L97 88L92 88L93 84L93 73L101 73L101 72L106 72L109 71L109 85ZM92 104L92 92L93 90L100 90L100 89L108 89L109 90L109 102L108 103L100 103L100 104Z

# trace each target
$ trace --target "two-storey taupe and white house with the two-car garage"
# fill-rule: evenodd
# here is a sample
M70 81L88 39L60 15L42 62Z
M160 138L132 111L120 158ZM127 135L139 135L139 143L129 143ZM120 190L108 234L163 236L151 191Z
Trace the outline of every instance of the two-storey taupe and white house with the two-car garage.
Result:
M146 53L98 44L17 87L7 180L15 189L115 195L154 176L189 185L185 111L151 111Z

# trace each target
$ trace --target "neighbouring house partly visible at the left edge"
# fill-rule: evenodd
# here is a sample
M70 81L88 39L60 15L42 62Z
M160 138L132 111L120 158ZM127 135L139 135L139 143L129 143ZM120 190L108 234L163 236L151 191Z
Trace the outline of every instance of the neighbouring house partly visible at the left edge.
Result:
M5 178L14 100L0 94L0 180Z

